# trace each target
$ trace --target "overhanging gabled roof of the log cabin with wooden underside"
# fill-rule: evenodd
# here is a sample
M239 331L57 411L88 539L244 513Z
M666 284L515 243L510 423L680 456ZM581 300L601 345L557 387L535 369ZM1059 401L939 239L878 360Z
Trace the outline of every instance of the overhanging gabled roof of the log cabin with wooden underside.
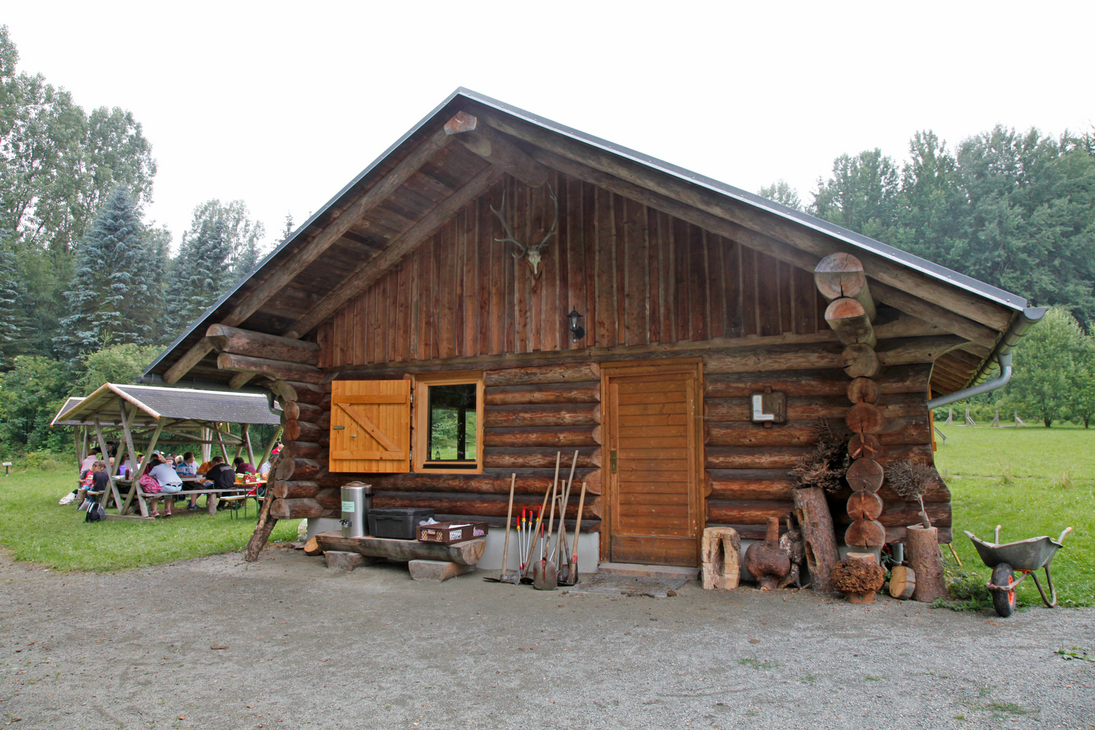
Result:
M485 141L479 150L453 142L447 123L460 113L477 120L475 134ZM458 89L210 306L146 374L168 383L184 375L230 380L234 373L218 369L206 339L212 324L313 338L322 322L483 193L498 170L520 176L521 164L611 186L670 215L714 217L740 230L742 245L802 269L832 253L855 254L877 299L971 344L937 360L936 393L975 378L1026 306L1022 297L839 225Z

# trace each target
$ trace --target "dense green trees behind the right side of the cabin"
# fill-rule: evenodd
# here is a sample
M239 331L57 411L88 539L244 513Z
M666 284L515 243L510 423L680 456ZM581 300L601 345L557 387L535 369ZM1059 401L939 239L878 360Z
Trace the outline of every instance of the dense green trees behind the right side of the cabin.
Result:
M782 181L760 195L1051 306L1016 350L1011 384L970 405L981 418L1019 412L1047 427L1088 427L1095 135L1053 138L998 126L952 152L923 131L908 153L901 164L878 149L840 155L805 206Z

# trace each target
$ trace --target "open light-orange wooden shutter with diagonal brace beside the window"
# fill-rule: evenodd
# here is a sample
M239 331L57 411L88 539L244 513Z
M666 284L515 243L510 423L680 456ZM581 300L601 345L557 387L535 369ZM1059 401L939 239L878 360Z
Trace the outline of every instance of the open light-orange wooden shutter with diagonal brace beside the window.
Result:
M331 472L411 471L411 381L331 383Z

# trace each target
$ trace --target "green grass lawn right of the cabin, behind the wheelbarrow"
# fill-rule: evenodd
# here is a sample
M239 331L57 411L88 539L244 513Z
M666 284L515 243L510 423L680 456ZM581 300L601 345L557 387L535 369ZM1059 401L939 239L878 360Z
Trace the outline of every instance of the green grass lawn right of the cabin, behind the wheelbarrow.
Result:
M1059 605L1095 605L1095 429L941 430L947 440L945 445L938 441L935 462L950 488L954 547L965 566L954 573L972 584L989 579L964 530L991 542L1001 524L1000 540L1006 543L1038 535L1056 540L1071 526L1064 547L1050 563ZM1022 604L1041 604L1029 578L1018 598Z

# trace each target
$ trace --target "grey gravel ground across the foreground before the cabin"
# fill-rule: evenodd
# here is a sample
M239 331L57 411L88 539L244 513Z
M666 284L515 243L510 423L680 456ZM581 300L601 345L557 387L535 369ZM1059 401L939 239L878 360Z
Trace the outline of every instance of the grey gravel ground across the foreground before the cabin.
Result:
M0 556L13 728L1095 728L1073 647L1095 654L1095 610L568 595L280 547L102 576Z

